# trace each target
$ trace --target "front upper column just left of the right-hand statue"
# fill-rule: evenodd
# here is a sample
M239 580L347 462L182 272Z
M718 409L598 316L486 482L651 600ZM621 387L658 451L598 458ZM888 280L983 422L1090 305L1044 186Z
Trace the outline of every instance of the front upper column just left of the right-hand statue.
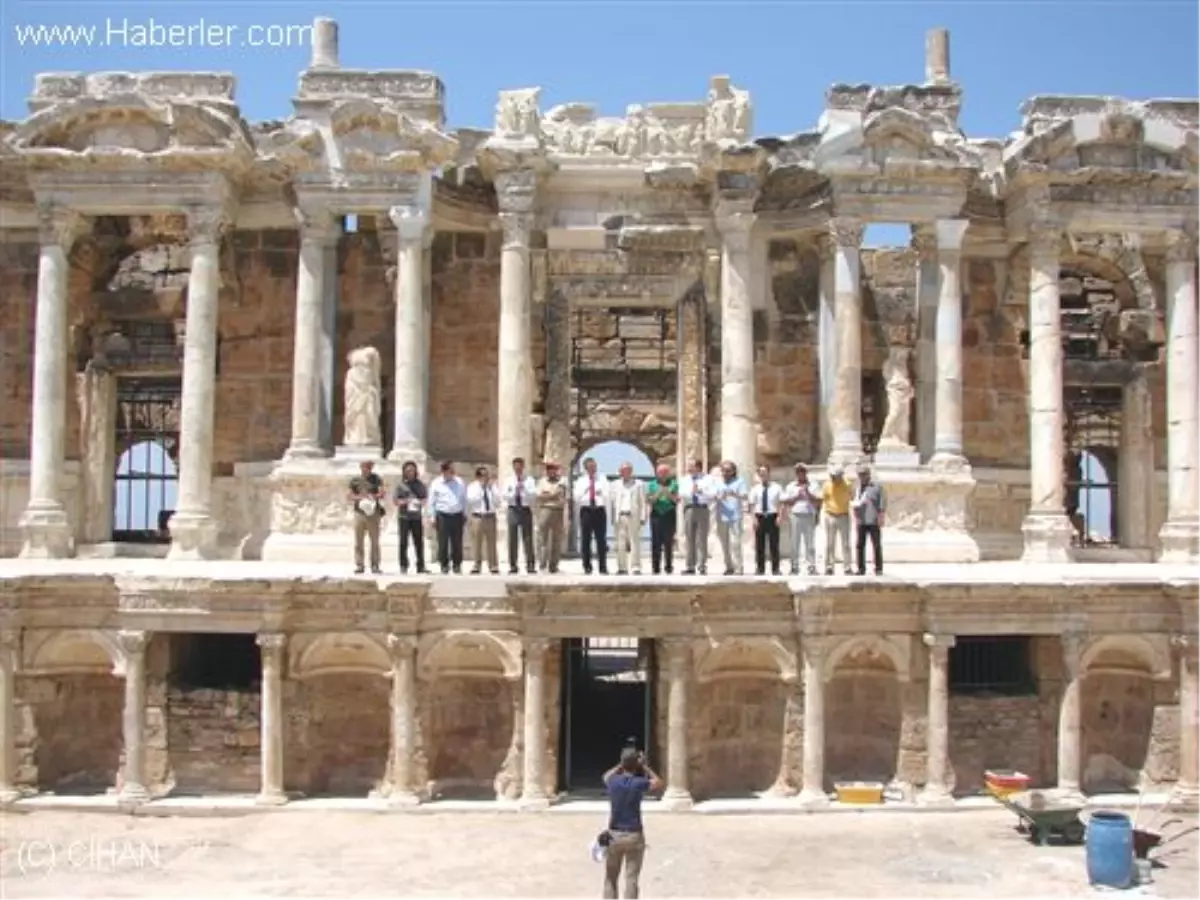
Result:
M833 452L829 461L853 464L863 455L863 293L858 251L862 223L829 222L834 252L834 331L838 374L833 398Z

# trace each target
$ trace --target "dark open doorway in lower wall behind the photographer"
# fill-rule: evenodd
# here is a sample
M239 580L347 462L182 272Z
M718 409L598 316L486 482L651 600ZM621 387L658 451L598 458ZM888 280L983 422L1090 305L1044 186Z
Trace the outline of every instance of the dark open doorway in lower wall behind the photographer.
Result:
M654 641L575 637L563 641L563 790L602 793L600 776L626 740L654 745Z

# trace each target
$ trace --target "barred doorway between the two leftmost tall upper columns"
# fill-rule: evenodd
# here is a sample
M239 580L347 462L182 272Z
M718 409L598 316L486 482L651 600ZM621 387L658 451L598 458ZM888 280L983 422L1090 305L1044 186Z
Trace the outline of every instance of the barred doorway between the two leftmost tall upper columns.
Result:
M179 488L178 378L121 379L116 389L113 540L162 544Z

